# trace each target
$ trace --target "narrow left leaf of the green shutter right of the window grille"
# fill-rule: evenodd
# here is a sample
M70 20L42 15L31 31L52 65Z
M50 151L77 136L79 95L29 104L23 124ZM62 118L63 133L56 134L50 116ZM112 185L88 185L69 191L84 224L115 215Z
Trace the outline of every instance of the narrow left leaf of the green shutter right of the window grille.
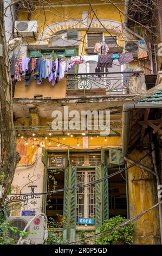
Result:
M95 179L100 180L102 177L102 166L96 166ZM102 182L95 184L95 229L96 233L99 233L99 229L102 225Z

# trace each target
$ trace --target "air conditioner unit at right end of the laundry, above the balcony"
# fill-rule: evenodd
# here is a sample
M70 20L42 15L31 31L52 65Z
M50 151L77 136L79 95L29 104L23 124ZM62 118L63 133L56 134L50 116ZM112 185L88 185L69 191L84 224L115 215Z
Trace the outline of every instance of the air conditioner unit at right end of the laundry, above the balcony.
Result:
M134 57L137 57L138 52L145 52L147 45L145 41L125 41L124 53L132 53Z

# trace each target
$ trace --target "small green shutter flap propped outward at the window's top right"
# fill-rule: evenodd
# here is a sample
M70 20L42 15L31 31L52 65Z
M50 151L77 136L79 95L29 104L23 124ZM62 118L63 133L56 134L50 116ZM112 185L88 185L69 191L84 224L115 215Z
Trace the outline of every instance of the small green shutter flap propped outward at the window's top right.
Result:
M109 149L109 163L120 164L121 166L125 165L125 160L120 149Z

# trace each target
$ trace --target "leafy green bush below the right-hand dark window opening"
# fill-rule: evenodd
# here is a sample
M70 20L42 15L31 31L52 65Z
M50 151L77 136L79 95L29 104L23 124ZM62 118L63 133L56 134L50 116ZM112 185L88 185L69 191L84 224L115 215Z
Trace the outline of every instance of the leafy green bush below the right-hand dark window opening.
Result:
M109 220L105 220L100 228L100 232L111 229L124 221L126 221L126 218L121 217L120 215L110 218ZM128 225L125 225L124 227L119 228L118 230L112 231L112 233L108 234L105 237L102 237L102 234L99 235L95 243L97 245L110 245L112 243L123 242L125 244L131 245L131 243L133 242L132 234L134 233L134 229L134 223L130 223Z

